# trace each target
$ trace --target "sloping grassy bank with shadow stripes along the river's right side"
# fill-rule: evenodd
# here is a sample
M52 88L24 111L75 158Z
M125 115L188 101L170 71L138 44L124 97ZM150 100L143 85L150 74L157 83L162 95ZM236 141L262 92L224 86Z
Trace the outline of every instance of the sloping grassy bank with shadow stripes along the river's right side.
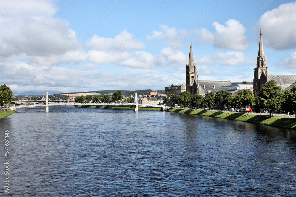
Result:
M296 118L285 118L278 116L255 115L255 114L242 114L233 112L217 112L208 110L192 110L192 109L169 109L169 112L187 113L194 115L210 116L215 118L225 118L235 121L243 121L248 123L257 123L279 128L287 128L296 130Z

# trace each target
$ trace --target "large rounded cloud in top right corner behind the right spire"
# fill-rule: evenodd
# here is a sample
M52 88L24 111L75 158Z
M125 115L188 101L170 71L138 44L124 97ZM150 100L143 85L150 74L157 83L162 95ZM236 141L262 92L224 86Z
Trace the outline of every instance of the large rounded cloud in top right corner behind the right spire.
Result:
M256 32L262 35L264 45L272 49L296 48L296 2L281 4L278 8L265 12L259 19ZM258 39L259 41L259 39Z

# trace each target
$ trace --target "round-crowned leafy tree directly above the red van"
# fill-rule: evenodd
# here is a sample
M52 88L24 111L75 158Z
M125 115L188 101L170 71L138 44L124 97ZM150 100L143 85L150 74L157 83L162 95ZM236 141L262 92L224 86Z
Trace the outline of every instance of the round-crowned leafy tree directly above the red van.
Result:
M244 89L240 91L233 99L233 102L235 105L244 109L244 113L245 113L246 107L251 107L251 108L253 107L254 101L255 101L254 94L249 89Z

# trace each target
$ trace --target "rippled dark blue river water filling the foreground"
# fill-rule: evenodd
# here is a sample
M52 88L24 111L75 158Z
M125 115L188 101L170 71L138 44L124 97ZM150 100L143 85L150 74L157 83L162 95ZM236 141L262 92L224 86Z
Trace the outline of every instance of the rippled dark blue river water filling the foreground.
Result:
M1 196L296 196L296 133L159 111L50 106L9 130Z

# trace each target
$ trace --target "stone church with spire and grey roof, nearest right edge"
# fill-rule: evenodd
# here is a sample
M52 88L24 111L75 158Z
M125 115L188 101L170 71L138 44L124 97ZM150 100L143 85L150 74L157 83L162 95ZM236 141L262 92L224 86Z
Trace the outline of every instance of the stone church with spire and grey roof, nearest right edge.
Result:
M254 69L253 93L255 97L258 96L263 84L271 79L273 79L277 85L281 86L282 89L291 89L292 84L296 84L295 74L268 74L263 51L262 32L260 32L257 66Z

